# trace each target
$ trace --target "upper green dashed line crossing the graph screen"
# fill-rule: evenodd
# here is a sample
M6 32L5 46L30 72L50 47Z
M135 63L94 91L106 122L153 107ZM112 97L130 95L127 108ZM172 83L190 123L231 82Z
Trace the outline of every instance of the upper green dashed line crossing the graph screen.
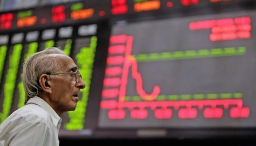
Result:
M161 61L161 60L175 60L175 59L193 59L193 58L208 58L208 57L224 57L244 55L245 47L225 47L215 49L201 49L201 50L187 50L187 51L173 51L150 54L136 54L133 55L137 62L147 61Z

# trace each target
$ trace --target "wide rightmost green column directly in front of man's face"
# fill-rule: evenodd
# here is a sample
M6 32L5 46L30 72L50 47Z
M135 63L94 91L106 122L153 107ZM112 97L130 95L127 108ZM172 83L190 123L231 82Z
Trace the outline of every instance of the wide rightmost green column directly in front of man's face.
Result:
M93 62L97 46L97 37L91 37L90 47L83 47L76 55L77 65L82 75L86 88L81 89L82 98L78 101L76 110L68 112L69 122L64 125L67 130L82 130L87 107L87 100L90 91L91 74L93 72Z

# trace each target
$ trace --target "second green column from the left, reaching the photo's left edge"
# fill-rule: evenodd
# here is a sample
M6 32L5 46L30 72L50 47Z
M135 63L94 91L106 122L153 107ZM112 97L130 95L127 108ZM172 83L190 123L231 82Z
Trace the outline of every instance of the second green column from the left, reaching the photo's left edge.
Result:
M14 96L16 77L19 69L21 52L22 52L22 44L14 45L12 54L10 56L9 68L5 76L4 103L3 103L3 112L0 115L0 123L2 123L10 114L12 98Z

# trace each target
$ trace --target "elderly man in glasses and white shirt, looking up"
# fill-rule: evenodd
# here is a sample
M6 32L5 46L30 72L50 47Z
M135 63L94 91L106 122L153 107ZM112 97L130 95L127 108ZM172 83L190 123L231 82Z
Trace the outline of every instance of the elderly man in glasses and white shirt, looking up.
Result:
M61 114L74 111L85 84L74 61L57 47L23 65L25 106L0 125L0 146L58 146Z

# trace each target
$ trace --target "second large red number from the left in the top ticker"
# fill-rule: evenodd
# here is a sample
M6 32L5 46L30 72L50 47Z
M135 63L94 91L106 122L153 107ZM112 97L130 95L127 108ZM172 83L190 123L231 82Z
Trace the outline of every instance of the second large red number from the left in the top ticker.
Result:
M52 22L63 22L66 20L65 7L59 5L52 8Z

